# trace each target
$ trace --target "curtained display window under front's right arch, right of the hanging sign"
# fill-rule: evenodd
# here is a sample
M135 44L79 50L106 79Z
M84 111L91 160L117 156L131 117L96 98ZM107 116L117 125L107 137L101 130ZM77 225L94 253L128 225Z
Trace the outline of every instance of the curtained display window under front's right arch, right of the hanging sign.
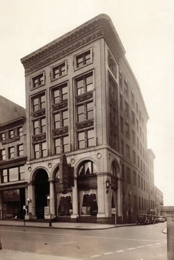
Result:
M96 216L98 213L97 189L79 191L80 216Z

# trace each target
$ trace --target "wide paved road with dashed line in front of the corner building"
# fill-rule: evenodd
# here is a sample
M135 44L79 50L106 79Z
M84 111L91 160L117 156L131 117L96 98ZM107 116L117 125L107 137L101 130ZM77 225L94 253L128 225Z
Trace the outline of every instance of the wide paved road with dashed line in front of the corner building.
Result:
M96 260L167 260L165 223L107 230L1 227L3 249ZM59 258L58 258L59 259Z

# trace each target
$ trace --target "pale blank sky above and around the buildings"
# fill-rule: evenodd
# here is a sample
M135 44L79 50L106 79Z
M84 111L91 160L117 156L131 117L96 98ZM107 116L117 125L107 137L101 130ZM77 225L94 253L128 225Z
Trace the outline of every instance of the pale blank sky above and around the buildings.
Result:
M0 95L25 107L20 59L98 14L111 18L149 114L154 182L174 206L174 1L0 0Z

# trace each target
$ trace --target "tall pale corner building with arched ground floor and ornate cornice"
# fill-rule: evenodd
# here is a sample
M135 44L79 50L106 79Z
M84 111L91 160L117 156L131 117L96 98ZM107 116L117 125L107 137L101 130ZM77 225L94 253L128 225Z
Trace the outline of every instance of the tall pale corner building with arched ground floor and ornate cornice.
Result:
M145 103L125 49L99 15L22 58L28 219L134 222L149 210ZM59 189L60 156L74 186Z

